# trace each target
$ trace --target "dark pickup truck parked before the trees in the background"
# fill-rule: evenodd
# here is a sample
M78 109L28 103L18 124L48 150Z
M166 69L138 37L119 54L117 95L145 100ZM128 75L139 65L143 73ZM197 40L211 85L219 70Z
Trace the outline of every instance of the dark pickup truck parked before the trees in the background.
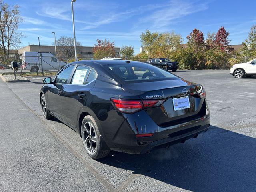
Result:
M166 71L172 70L172 72L176 72L178 69L178 62L172 62L166 58L152 58L147 60L145 63L160 67Z

